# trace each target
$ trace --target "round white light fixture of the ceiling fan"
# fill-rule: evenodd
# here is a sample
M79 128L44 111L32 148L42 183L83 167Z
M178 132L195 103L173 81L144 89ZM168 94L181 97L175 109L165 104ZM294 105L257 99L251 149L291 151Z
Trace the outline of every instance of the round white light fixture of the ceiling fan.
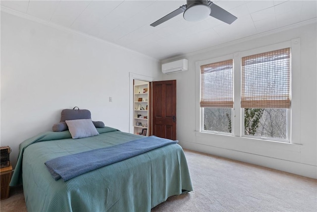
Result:
M200 21L207 18L211 13L211 8L206 4L196 4L187 7L184 11L184 19L187 21Z

